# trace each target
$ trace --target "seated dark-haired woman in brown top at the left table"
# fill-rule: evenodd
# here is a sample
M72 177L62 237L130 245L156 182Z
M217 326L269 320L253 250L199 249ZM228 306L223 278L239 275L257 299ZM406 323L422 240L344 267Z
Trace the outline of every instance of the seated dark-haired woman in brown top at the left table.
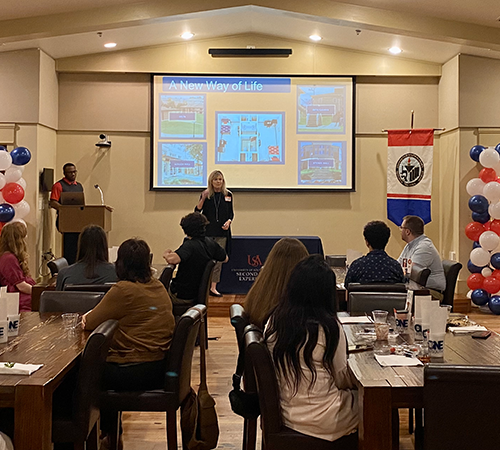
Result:
M149 254L149 246L143 240L123 242L116 260L118 283L82 317L85 330L94 330L109 319L119 323L104 369L105 389L158 389L165 382L165 353L175 319L165 287L151 276ZM110 422L102 411L104 435L111 431Z

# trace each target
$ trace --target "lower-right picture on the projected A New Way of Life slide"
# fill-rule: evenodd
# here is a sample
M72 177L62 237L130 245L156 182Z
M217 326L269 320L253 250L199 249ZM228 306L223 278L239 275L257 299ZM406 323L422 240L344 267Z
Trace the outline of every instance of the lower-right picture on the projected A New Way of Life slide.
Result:
M301 185L345 183L345 142L299 142Z

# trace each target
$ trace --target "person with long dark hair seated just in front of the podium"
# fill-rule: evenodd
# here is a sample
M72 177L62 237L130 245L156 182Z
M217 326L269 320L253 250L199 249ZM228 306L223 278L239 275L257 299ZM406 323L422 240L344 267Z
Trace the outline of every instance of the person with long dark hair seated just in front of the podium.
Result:
M77 262L61 269L56 290L66 284L104 284L117 280L115 265L108 262L108 238L99 225L87 225L78 238Z

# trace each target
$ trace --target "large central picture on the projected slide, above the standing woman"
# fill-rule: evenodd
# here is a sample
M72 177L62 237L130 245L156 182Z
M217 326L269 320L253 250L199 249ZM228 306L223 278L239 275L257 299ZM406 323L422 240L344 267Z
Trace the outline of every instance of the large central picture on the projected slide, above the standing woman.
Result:
M216 113L216 164L284 164L283 113Z

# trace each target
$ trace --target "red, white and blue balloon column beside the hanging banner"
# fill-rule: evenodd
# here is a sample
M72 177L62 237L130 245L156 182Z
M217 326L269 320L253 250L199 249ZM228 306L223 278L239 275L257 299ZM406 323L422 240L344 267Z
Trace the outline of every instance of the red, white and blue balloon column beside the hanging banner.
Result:
M467 183L472 222L465 227L474 241L467 268L471 273L469 296L478 306L488 305L500 314L500 144L496 147L475 145L470 157L483 168L479 178Z

